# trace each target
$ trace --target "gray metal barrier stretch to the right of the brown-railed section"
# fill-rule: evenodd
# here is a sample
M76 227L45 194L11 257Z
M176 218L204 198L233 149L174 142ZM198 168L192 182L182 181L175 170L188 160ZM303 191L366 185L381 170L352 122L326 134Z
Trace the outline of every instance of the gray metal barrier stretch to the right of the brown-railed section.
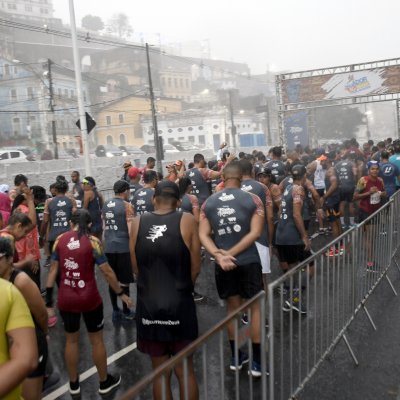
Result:
M296 398L341 339L358 365L346 331L360 310L376 329L366 302L383 279L397 295L387 272L399 268L399 216L398 193L268 286L269 400Z

